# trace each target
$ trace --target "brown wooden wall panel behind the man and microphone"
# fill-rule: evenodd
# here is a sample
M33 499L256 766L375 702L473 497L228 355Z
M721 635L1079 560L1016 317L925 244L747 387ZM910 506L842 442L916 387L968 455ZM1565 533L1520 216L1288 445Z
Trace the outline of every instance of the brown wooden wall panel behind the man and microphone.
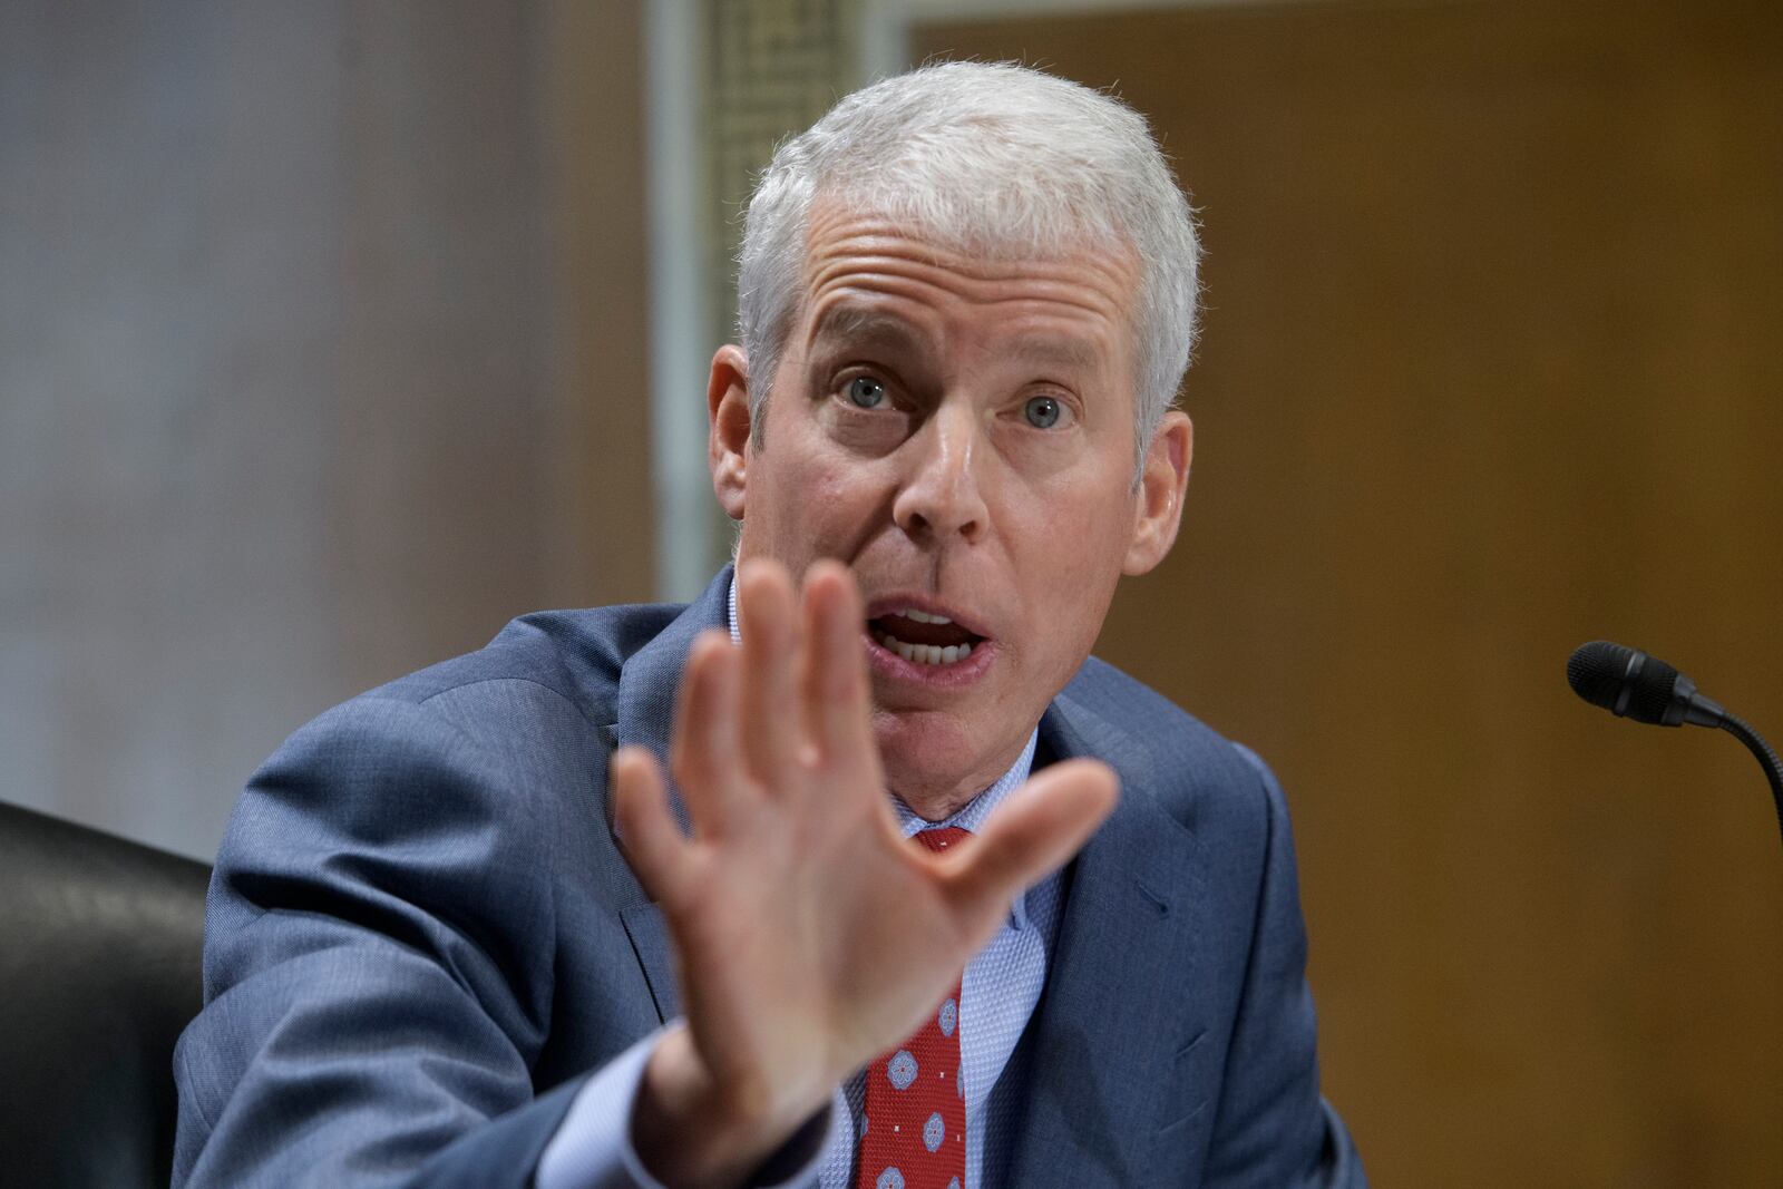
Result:
M1259 747L1378 1185L1783 1169L1783 16L1309 4L922 27L1118 86L1204 212L1187 521L1100 652Z

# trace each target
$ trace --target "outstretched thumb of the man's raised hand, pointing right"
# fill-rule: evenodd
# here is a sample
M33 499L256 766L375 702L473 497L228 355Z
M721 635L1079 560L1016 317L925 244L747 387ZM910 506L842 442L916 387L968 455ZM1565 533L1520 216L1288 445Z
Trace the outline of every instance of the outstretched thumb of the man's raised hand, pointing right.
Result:
M1036 774L972 840L940 861L956 907L981 927L1009 900L1077 854L1120 795L1114 770L1098 759L1066 759Z

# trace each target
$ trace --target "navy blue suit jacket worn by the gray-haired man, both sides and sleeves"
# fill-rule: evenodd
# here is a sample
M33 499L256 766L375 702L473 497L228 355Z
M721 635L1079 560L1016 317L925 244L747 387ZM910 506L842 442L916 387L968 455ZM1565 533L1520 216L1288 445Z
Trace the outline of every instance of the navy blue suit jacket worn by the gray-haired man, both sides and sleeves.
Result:
M540 613L339 706L250 781L218 854L175 1185L528 1185L587 1078L678 1013L610 829L619 743L667 749L690 608ZM1318 1093L1269 772L1091 660L1039 724L1113 816L995 1095L986 1185L1360 1185Z

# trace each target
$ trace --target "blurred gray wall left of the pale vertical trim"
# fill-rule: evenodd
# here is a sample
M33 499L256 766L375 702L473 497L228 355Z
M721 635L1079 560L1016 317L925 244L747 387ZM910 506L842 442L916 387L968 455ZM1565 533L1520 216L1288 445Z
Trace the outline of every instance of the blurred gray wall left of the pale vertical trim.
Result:
M0 799L649 592L638 5L0 4Z

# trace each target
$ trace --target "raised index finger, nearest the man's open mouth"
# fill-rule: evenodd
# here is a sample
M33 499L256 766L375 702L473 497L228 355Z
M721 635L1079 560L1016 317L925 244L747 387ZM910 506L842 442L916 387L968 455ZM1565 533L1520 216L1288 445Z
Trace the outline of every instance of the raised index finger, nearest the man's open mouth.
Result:
M818 562L804 578L806 656L801 683L811 742L831 763L877 768L867 649L867 608L854 576L840 562Z

